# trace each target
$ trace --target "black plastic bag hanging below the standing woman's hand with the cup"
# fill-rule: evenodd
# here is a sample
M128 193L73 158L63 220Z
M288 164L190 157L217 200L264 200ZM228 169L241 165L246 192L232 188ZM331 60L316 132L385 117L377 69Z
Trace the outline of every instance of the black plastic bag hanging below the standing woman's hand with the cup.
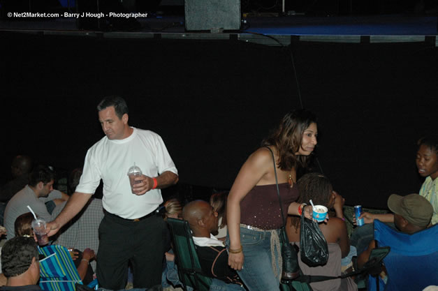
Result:
M328 261L326 238L319 229L318 223L301 216L300 225L301 260L309 267L322 266Z

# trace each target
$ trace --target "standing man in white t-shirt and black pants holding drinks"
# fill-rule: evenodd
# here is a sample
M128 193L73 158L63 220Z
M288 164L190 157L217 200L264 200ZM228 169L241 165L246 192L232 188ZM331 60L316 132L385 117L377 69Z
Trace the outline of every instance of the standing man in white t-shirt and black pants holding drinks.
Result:
M97 109L105 137L87 151L80 183L63 211L48 224L49 235L78 214L102 179L105 216L99 226L99 285L124 289L131 262L133 287L152 288L161 284L166 227L155 215L163 202L159 189L177 183L177 169L159 135L128 125L123 98L103 98ZM127 172L134 163L143 174L131 190Z

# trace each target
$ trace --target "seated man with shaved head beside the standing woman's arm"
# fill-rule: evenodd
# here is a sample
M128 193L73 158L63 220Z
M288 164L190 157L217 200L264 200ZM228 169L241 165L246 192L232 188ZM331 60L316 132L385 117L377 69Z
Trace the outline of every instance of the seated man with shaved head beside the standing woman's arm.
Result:
M182 218L189 222L193 232L200 267L207 276L213 278L211 290L244 290L235 270L228 266L228 253L223 241L219 241L212 232L217 232L218 218L213 207L203 201L189 202L182 209Z

